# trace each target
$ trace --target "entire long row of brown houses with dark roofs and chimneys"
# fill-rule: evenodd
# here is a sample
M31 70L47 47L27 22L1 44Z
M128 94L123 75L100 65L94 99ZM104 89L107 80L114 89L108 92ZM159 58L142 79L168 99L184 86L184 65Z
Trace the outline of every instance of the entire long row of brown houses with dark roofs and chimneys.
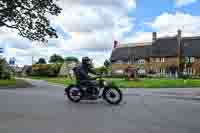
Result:
M145 73L177 76L178 70L183 74L200 74L200 37L177 36L157 38L153 32L152 42L148 45L119 47L111 55L113 72L122 72L131 65ZM144 68L144 69L143 69Z

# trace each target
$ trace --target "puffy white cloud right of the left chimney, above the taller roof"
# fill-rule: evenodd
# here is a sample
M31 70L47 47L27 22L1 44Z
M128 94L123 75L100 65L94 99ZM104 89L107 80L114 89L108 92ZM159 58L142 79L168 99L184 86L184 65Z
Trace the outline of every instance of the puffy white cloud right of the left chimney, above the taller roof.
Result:
M156 31L174 34L178 29L184 35L199 35L200 16L192 16L187 13L177 12L175 14L163 13L156 17L149 25Z

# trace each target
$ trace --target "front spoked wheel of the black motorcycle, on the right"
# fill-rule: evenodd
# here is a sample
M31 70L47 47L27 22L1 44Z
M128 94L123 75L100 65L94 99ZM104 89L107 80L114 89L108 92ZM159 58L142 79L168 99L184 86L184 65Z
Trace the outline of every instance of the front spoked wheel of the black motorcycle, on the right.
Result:
M106 88L103 98L109 104L117 105L122 101L122 92L118 87Z

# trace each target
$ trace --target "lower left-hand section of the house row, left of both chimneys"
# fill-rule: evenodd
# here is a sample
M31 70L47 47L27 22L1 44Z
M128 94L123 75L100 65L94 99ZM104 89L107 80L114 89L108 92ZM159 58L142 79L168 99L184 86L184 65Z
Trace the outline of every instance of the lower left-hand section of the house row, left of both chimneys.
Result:
M129 44L131 47L119 47L111 55L112 73L123 74L128 66L139 69L140 73L149 71L151 43Z

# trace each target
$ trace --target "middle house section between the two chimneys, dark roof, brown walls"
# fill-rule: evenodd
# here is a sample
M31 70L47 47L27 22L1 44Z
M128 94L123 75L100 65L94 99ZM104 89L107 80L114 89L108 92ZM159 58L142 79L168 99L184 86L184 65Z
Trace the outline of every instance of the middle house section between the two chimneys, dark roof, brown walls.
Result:
M157 39L156 33L153 33L151 56L149 57L149 69L151 72L159 75L177 75L179 67L178 49L177 37Z

